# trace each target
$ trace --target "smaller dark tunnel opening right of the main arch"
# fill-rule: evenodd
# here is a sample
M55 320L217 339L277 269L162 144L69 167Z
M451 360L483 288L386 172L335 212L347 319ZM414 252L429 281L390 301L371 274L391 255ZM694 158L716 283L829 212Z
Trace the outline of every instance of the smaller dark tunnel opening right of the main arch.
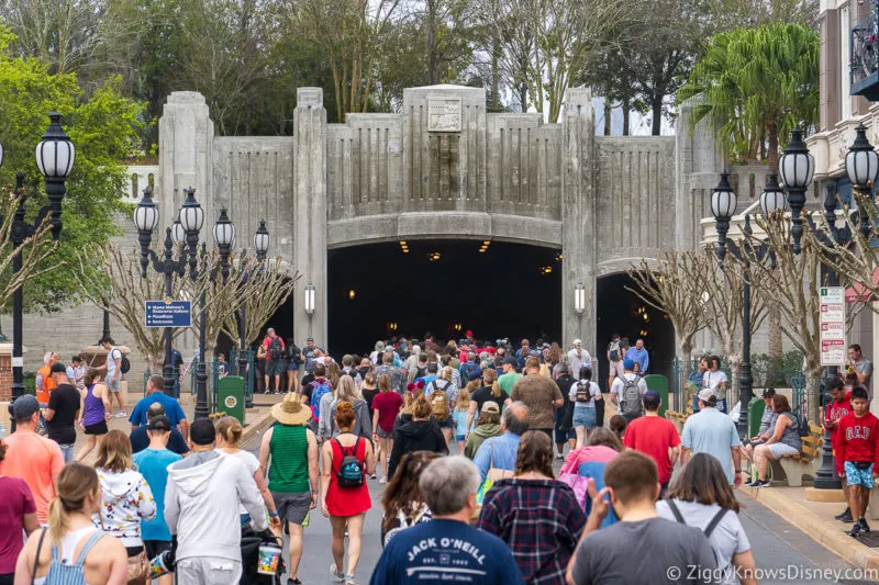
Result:
M613 334L626 337L631 345L644 339L649 351L648 373L671 380L675 359L675 329L665 313L647 305L628 288L635 288L628 274L611 274L598 280L598 355L601 387L608 384L608 344Z

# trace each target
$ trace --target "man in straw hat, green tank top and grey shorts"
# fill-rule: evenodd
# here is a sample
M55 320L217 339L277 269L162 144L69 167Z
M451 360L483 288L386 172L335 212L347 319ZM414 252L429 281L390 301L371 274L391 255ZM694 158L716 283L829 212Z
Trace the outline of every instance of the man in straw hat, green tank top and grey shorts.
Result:
M299 393L288 392L271 408L271 416L277 423L263 435L259 466L268 477L278 516L290 535L288 584L299 585L302 527L308 526L309 513L318 506L318 438L308 428L311 408L302 405Z

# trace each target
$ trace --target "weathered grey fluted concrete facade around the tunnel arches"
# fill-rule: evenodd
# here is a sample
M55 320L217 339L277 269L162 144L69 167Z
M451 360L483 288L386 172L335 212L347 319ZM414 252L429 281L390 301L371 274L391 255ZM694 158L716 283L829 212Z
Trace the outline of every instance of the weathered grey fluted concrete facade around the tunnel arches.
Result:
M598 279L643 257L694 246L706 204L699 200L706 201L721 170L704 128L677 137L603 137L596 136L594 120L586 89L569 89L560 122L547 124L541 114L487 113L481 89L435 86L407 89L398 114L349 114L345 124L327 124L322 91L299 88L292 136L220 137L204 98L175 92L159 122L158 166L133 175L140 183L154 177L163 229L190 185L205 210L209 245L221 206L242 247L252 246L266 220L270 254L302 274L293 323L282 324L300 341L326 342L327 249L470 238L561 250L564 339L579 337L591 350ZM134 243L130 218L120 222ZM574 311L578 282L587 292L582 314ZM301 302L309 283L316 293L313 315ZM126 341L119 324L111 329ZM64 334L55 340L51 330ZM29 315L25 369L35 370L48 348L69 359L100 330L93 307ZM188 359L194 339L187 334L178 346ZM135 380L143 367L132 358Z

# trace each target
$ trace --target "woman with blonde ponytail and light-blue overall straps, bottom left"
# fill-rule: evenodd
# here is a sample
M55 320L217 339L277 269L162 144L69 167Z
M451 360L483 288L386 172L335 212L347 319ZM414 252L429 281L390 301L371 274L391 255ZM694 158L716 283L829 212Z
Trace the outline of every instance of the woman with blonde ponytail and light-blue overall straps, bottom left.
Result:
M15 565L15 585L125 585L127 554L91 521L101 507L101 486L91 468L70 463L57 479L48 528L27 539Z

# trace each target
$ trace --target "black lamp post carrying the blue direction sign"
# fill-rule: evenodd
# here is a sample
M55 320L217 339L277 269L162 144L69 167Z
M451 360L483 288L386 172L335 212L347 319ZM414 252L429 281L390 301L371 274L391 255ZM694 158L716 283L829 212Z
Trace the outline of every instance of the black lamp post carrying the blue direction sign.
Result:
M158 255L149 247L153 240L153 230L158 225L158 209L153 202L153 189L149 187L144 189L143 199L134 209L132 218L134 220L134 226L137 228L137 241L141 244L141 277L146 278L146 269L152 261L153 269L165 277L165 296L170 299L174 293L174 275L177 274L182 278L186 274L186 255L181 254L180 258L174 259L175 239L173 234L176 230L171 227L165 229L165 254L163 259L159 259ZM176 233L176 235L179 236L179 233ZM167 396L175 396L174 386L177 384L177 375L174 373L171 338L171 327L165 327L165 364L162 370L162 376L165 379L164 390Z

